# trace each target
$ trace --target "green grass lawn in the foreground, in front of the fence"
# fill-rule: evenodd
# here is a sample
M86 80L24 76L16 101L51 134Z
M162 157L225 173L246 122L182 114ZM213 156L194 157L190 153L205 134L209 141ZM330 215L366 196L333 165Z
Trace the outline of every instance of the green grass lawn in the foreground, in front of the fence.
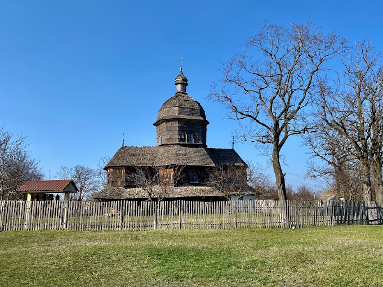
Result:
M0 286L383 286L383 226L0 233Z

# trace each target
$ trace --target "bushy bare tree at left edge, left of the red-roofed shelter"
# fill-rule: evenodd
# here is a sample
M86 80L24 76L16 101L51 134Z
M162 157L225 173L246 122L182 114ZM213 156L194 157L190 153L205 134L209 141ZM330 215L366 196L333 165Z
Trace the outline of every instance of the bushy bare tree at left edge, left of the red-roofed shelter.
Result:
M16 190L22 184L44 176L38 162L29 157L25 139L22 135L14 138L4 126L0 128L0 200L20 199Z

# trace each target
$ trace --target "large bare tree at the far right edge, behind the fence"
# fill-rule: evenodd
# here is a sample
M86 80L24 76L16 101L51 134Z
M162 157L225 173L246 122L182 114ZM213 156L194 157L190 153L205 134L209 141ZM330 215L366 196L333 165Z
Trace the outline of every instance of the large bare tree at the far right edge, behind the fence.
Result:
M375 47L367 40L355 44L342 64L344 70L339 74L337 87L332 88L325 80L321 83L321 118L326 125L344 136L358 159L362 171L364 200L372 200L370 166L372 158L379 158L381 143L379 139L380 112L375 113L376 103L381 102L382 58ZM372 129L375 130L372 136ZM371 145L373 140L373 145ZM376 178L380 174L377 167Z

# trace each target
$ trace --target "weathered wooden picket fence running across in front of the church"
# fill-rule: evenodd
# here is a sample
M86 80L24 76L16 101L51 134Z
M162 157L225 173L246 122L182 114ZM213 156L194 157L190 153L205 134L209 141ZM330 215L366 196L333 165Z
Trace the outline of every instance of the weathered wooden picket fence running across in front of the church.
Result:
M364 201L0 201L0 231L301 228L383 223Z

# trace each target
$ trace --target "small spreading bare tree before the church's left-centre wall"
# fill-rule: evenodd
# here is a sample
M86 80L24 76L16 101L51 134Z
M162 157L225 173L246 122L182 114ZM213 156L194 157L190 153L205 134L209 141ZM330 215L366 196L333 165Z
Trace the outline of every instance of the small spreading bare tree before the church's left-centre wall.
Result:
M183 173L184 165L134 166L127 173L130 185L142 188L151 201L163 201L173 190Z

